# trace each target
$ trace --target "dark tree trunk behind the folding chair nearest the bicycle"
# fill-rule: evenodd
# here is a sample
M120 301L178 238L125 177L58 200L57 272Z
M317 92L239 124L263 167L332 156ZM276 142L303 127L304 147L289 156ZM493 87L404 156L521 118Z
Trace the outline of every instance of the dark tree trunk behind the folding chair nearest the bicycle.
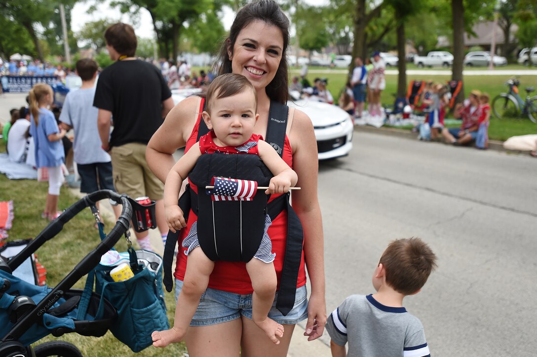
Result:
M462 81L463 60L465 56L465 18L463 0L452 0L451 11L453 18L453 68L451 79ZM461 103L465 98L464 88L455 99L455 103Z

